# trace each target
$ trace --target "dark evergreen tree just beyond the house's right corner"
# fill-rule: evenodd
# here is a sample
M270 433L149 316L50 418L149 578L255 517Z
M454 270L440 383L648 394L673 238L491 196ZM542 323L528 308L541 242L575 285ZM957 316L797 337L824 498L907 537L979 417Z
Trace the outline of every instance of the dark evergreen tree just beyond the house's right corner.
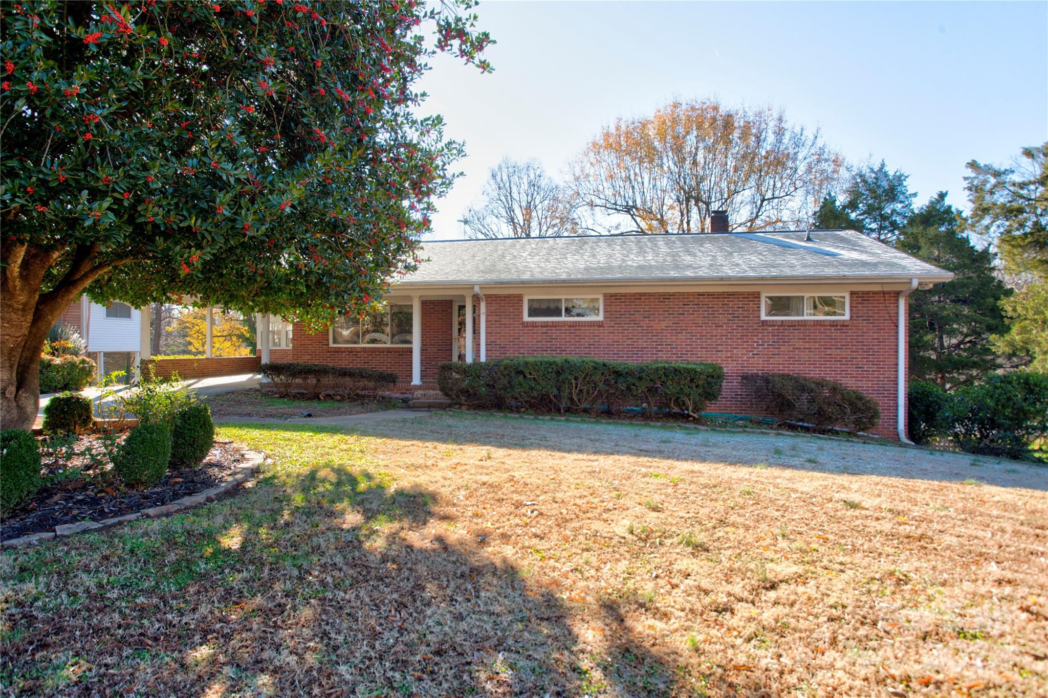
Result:
M1006 328L1000 302L1011 293L994 274L994 253L977 249L964 225L940 192L910 218L897 242L900 250L956 274L910 296L910 375L945 389L999 365L990 336Z

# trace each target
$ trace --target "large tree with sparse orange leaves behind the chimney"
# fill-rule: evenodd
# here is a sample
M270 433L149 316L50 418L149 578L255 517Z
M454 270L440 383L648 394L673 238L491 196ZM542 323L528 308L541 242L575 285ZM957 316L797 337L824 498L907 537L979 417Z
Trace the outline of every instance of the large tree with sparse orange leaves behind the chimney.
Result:
M716 209L732 230L762 230L806 224L843 165L782 111L674 102L605 128L574 161L572 186L605 232L701 232Z

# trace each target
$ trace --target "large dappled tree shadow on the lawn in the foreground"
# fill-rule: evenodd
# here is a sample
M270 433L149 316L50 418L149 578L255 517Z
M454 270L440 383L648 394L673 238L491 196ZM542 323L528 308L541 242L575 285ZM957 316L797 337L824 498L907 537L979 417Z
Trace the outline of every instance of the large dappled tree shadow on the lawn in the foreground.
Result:
M586 658L566 602L435 533L435 495L326 463L240 497L4 556L15 695L665 695L616 609ZM617 620L616 620L617 618ZM610 685L583 665L599 665Z

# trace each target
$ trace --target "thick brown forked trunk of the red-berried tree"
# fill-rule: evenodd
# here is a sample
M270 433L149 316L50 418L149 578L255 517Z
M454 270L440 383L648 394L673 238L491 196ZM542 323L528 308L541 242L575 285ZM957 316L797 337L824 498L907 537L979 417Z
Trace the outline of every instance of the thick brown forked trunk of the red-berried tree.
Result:
M0 424L29 429L40 406L40 355L51 325L108 266L92 266L97 246L82 246L56 287L41 293L44 273L62 250L3 248L0 270Z

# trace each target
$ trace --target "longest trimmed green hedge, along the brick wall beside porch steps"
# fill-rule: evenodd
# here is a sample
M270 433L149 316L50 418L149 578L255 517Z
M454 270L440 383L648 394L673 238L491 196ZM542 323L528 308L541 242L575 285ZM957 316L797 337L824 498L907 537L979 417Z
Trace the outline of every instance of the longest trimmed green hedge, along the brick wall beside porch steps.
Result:
M714 363L630 363L585 357L515 357L440 364L437 383L452 402L537 412L665 408L697 418L720 397L724 369Z

